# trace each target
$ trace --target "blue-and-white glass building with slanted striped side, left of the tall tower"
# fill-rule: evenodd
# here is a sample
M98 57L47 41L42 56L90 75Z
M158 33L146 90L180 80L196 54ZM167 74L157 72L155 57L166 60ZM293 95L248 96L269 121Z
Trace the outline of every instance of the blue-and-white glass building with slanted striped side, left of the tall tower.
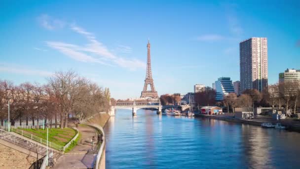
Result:
M224 99L225 95L229 93L234 93L234 88L230 78L219 78L216 84L216 100L221 101Z

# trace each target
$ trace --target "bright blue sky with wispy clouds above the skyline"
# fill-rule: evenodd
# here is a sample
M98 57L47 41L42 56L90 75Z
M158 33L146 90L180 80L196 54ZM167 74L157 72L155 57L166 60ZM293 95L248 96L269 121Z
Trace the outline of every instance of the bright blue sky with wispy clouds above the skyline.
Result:
M150 39L158 94L186 93L239 80L239 42L266 37L273 84L300 69L299 8L297 0L0 0L0 79L46 83L72 69L112 97L139 97Z

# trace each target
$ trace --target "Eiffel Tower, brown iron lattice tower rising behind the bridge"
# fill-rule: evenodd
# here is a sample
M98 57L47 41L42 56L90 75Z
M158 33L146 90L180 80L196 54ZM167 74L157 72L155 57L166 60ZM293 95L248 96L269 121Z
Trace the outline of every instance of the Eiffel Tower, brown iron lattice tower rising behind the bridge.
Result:
M147 44L148 48L148 55L147 55L147 72L146 72L146 79L145 79L145 85L144 89L141 94L141 98L158 98L157 91L155 91L153 79L152 79L152 71L151 71L151 56L150 56L150 42L148 40ZM147 90L148 85L150 84L151 90Z

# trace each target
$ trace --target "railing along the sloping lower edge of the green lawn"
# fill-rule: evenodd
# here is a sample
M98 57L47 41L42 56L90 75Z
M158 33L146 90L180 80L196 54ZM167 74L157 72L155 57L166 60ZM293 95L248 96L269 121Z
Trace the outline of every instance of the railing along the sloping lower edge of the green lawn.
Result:
M19 128L14 128L14 127L12 127L12 128L11 128L11 131L16 132L16 133L18 133L18 134L21 134L21 135L23 135L23 136L25 136L25 137L27 137L27 138L32 139L32 140L38 141L38 142L41 143L41 144L47 145L47 140L42 139L42 138L40 138L40 137L38 137L38 136L35 136L35 135L33 135L33 134L29 133L29 132L26 132L26 131L24 131L24 130L21 130L21 129L19 129ZM50 142L50 141L48 141L48 146L49 146L49 147L52 147L52 148L54 148L54 149L56 149L56 150L59 150L59 151L64 151L64 146L57 145L57 144L52 143L52 142Z

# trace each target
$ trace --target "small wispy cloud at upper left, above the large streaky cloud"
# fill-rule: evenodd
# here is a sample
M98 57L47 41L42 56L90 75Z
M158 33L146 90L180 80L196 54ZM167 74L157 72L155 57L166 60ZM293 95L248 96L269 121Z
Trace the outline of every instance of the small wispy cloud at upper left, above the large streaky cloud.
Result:
M55 30L64 28L66 23L59 19L54 19L47 14L42 14L38 17L40 25L47 30Z

